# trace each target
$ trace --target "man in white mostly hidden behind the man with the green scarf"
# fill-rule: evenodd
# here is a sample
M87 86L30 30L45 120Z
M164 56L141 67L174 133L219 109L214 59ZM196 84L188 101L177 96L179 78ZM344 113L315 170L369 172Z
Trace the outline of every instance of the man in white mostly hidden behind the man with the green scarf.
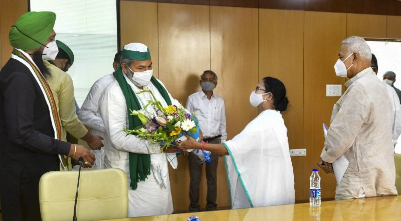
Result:
M120 65L121 62L120 60L121 60L121 51L117 52L114 56L114 62L113 62L114 71ZM82 124L90 127L92 134L99 135L101 137L104 137L105 130L104 130L103 120L100 118L99 114L99 99L100 95L102 95L106 86L109 85L109 83L111 83L112 81L114 81L114 73L115 72L98 79L92 85L78 113L78 118L82 122ZM104 149L91 150L91 152L96 156L95 165L92 166L92 169L103 169Z

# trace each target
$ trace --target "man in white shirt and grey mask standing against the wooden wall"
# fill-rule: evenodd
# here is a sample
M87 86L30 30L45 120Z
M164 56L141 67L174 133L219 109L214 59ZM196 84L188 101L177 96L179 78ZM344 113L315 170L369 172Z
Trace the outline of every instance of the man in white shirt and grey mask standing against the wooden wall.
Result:
M191 94L186 101L186 109L190 113L195 113L199 121L200 131L203 133L204 142L219 144L226 142L226 114L224 100L221 96L213 93L217 86L217 75L211 70L204 71L200 75L199 84L202 90ZM189 153L189 199L188 209L190 212L199 211L199 182L202 175L203 164L193 152ZM208 193L206 196L206 210L216 210L217 197L217 165L219 155L212 153L211 161L206 163L206 178L208 179Z

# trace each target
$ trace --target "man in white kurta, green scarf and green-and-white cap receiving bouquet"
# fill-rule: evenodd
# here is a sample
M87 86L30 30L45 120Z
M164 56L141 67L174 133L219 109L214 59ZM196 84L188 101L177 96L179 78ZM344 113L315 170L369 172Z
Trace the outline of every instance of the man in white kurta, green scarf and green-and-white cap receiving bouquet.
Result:
M150 144L134 135L126 135L122 129L133 129L142 125L137 116L128 115L128 110L139 110L153 100L151 90L163 106L181 106L153 76L152 60L146 45L130 43L122 50L121 65L99 101L105 136L105 168L120 168L128 177L128 217L169 214L173 211L170 180L168 178L169 154L176 151L168 148L160 153L160 146ZM154 113L151 105L144 110ZM174 155L174 153L172 154ZM171 160L172 161L172 160Z

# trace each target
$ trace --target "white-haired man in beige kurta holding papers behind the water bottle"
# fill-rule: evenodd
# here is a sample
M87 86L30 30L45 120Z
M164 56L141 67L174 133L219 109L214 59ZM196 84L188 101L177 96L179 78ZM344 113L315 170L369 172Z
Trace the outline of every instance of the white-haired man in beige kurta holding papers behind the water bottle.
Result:
M333 172L339 157L349 161L335 199L396 195L391 102L371 68L370 48L352 36L342 41L338 57L335 73L349 80L334 105L318 165Z

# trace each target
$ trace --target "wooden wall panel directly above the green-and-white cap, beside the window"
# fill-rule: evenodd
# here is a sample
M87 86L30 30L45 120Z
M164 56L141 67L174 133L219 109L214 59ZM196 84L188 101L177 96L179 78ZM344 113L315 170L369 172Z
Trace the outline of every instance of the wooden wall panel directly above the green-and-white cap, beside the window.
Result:
M157 3L120 1L121 48L132 42L149 47L153 75L158 77Z

